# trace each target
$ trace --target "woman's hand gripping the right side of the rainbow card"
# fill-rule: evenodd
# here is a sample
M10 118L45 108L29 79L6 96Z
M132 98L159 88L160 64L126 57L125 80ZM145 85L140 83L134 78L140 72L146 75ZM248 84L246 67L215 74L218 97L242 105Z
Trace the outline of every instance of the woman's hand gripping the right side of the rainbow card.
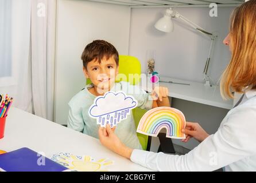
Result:
M185 129L182 129L181 132L186 135L186 138L182 140L183 142L188 142L191 137L202 142L209 136L209 134L196 122L187 122Z

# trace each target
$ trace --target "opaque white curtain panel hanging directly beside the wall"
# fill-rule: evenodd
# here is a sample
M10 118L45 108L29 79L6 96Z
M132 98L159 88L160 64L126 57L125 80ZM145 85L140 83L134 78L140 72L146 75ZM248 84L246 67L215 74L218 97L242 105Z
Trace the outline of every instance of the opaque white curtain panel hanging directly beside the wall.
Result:
M53 120L56 1L33 0L31 11L34 113Z

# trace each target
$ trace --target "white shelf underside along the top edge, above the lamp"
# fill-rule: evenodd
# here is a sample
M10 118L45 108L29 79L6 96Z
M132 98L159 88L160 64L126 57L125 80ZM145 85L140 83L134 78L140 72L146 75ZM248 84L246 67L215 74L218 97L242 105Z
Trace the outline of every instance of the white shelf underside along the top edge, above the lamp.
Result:
M234 5L245 2L244 0L86 0L94 2L111 3L126 6L166 6L166 5L209 5L218 3L220 5Z

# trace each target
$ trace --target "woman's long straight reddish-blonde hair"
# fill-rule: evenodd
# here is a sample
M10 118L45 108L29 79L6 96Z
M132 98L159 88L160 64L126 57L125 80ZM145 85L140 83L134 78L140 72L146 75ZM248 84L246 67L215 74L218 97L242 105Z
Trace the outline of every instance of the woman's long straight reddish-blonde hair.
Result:
M256 86L256 0L243 3L232 13L230 48L231 61L220 81L224 99Z

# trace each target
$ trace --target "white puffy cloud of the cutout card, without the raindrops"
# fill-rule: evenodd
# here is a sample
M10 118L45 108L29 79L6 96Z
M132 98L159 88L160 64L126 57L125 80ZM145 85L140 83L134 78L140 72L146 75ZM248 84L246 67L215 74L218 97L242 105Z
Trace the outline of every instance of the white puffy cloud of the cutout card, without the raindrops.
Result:
M94 104L90 107L88 114L92 118L98 118L127 109L131 110L136 108L137 105L138 102L133 96L126 96L123 92L107 92L104 96L95 98Z

